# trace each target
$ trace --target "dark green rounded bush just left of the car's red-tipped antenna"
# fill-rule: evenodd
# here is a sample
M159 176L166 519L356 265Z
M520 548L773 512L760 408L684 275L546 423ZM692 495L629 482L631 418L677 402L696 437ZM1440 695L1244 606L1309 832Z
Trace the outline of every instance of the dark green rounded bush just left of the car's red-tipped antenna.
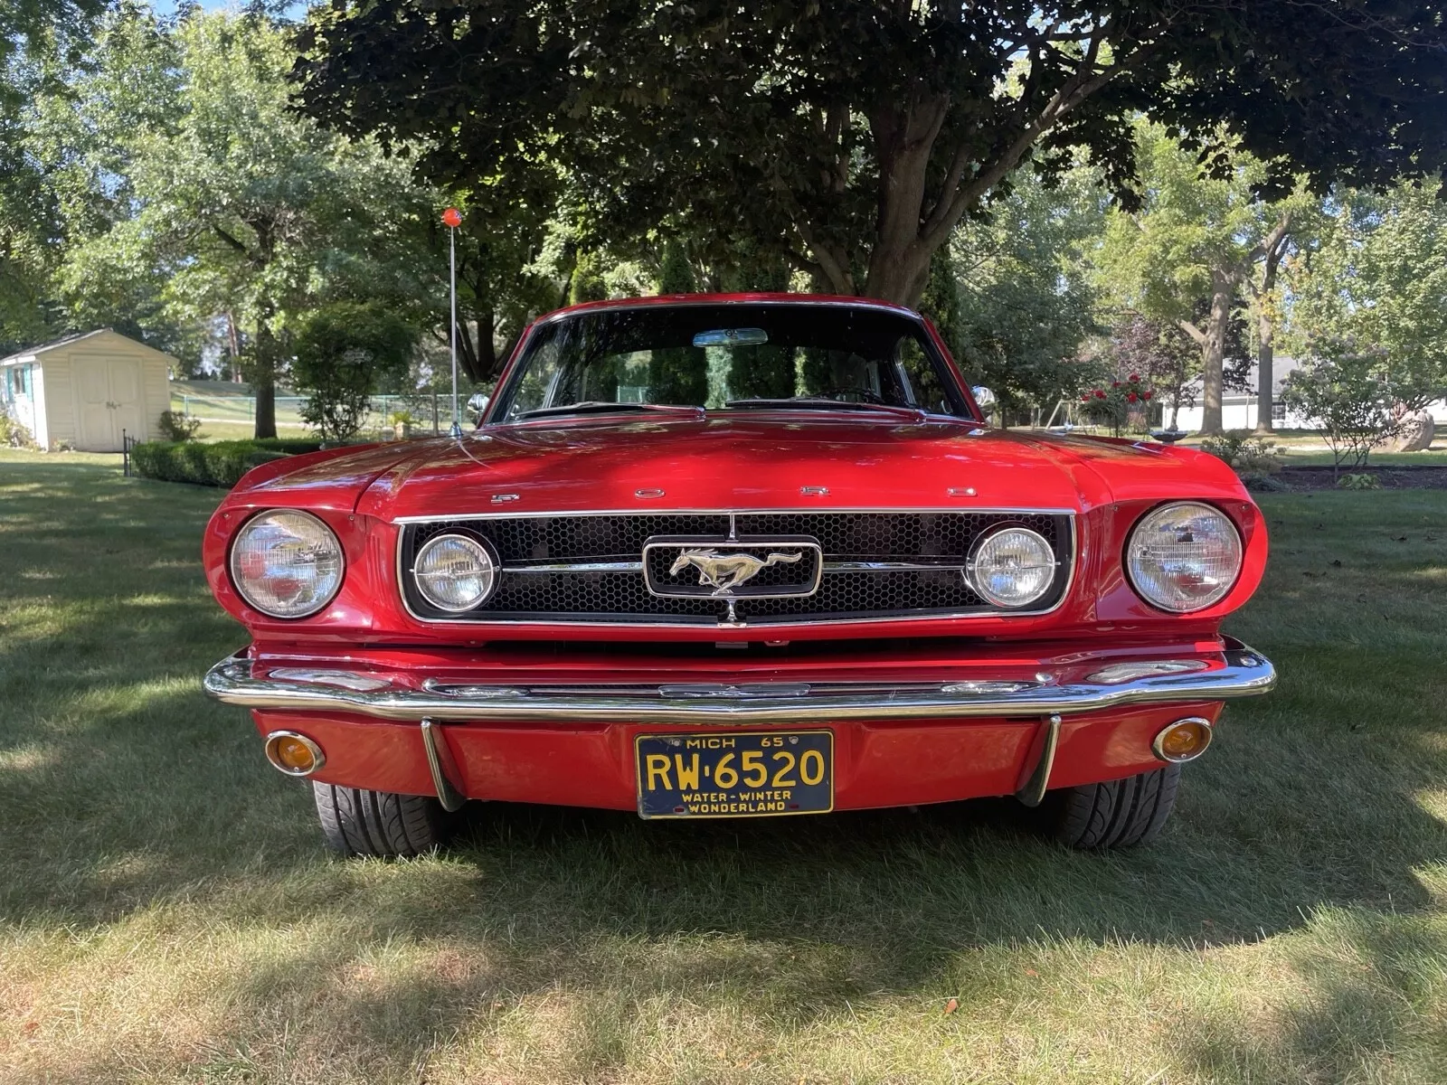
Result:
M372 393L405 376L415 346L415 330L376 302L320 310L297 334L292 378L307 393L301 417L324 440L356 435Z

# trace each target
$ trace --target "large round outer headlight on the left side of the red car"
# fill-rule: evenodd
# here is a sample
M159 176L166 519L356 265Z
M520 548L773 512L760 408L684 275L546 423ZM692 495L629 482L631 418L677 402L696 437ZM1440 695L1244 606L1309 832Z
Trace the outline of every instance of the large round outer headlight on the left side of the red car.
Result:
M232 583L272 618L307 618L341 587L341 544L310 512L253 516L232 542Z

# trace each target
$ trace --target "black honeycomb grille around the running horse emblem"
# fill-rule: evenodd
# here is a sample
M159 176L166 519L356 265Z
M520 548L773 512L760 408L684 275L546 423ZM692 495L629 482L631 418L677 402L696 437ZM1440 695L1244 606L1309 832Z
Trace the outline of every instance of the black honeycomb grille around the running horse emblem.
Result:
M414 615L449 622L589 622L625 625L748 625L1001 613L962 573L975 540L1019 524L1055 548L1059 573L1029 613L1059 603L1074 561L1068 514L1046 512L738 512L569 514L495 516L404 525L398 570ZM446 613L418 595L411 577L418 548L441 532L486 538L501 582L479 608ZM812 595L784 597L660 597L648 590L644 544L660 537L700 540L818 540L823 570ZM767 544L761 544L767 547ZM661 566L650 554L654 576ZM670 558L671 560L671 558ZM797 583L799 566L761 570L748 587Z

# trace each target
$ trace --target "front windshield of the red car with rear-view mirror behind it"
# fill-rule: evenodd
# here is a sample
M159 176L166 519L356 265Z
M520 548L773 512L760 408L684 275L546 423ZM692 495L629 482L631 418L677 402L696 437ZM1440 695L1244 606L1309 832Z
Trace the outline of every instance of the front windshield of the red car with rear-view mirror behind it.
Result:
M592 310L543 324L495 420L680 408L969 417L917 320L865 305L734 302Z

